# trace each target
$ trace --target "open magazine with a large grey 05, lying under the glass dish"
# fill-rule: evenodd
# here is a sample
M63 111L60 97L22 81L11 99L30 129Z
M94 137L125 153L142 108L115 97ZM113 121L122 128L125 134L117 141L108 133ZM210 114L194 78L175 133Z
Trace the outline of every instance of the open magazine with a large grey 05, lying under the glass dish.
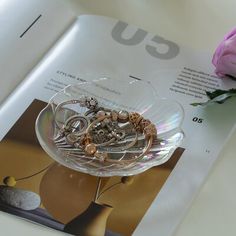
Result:
M89 206L97 178L56 164L43 151L35 134L39 112L70 84L143 80L183 106L186 138L168 162L102 196L114 208L106 235L173 235L236 120L231 100L221 112L217 104L190 104L236 82L214 75L210 54L158 34L103 16L75 18L58 1L25 2L14 27L4 28L8 39L0 38L0 210L64 232ZM17 5L6 3L6 18ZM7 176L18 180L14 187L4 185ZM118 180L106 178L101 188Z

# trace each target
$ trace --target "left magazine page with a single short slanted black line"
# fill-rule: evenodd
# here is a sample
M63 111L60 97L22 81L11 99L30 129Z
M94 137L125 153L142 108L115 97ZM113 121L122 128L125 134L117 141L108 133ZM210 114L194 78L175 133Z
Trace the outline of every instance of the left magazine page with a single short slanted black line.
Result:
M61 1L1 1L0 103L75 18ZM3 89L4 88L4 89Z

